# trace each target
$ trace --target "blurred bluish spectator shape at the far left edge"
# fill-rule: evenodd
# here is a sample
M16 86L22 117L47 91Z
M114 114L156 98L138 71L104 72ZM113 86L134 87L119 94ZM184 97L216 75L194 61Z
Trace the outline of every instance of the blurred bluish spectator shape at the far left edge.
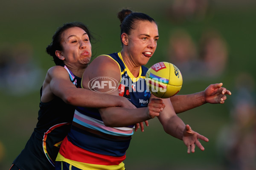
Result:
M0 53L0 84L4 92L19 96L38 89L42 70L33 60L33 50L29 43L20 42L15 46L15 49L7 48Z

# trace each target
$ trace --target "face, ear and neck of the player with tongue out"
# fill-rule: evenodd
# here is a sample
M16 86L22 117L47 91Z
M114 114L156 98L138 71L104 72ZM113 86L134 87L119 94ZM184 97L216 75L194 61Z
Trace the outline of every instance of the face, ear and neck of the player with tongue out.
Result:
M149 21L138 21L130 35L125 33L121 35L122 57L134 77L138 76L140 66L147 64L153 56L158 39L157 24Z

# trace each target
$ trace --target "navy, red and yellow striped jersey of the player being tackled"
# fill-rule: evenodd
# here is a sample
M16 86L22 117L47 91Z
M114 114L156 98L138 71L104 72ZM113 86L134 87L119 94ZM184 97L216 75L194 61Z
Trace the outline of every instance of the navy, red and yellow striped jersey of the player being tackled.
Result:
M105 56L119 65L119 96L126 97L137 108L147 107L150 92L146 91L145 74L148 68L141 66L139 76L134 77L120 52ZM80 169L124 170L123 161L133 129L134 125L107 127L96 108L77 107L70 133L62 142L56 161L66 161Z

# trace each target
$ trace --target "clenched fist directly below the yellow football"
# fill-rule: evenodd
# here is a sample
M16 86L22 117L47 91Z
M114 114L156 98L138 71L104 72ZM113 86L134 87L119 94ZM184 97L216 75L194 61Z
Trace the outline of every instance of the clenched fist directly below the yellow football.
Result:
M150 98L148 103L148 116L149 118L154 118L155 116L159 116L159 112L163 111L165 108L165 104L162 99L159 98Z

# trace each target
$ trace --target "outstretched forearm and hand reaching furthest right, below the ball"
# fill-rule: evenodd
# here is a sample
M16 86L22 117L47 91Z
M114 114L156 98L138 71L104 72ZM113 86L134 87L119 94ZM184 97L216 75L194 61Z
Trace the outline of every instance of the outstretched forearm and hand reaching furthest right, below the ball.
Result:
M182 113L205 103L223 104L227 99L226 95L231 95L231 92L222 85L223 83L211 84L204 91L195 94L170 97L175 112Z

